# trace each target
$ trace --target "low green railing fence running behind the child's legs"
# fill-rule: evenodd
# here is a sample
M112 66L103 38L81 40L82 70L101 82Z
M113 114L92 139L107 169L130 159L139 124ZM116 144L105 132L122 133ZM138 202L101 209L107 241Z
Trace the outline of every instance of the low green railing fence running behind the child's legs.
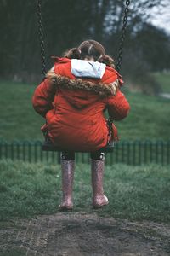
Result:
M60 163L60 153L42 151L41 141L0 141L0 159ZM88 153L77 153L76 160L89 163L90 157ZM121 141L115 144L113 153L105 154L105 163L110 166L115 163L133 166L149 163L169 165L170 141Z

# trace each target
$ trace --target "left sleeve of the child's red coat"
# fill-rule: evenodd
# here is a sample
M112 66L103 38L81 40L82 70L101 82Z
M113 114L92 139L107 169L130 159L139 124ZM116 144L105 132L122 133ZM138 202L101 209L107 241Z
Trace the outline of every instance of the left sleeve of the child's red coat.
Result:
M48 79L42 81L42 83L39 84L34 91L34 95L32 97L33 108L43 117L46 116L48 110L54 108L53 102L55 92L56 88L49 82Z

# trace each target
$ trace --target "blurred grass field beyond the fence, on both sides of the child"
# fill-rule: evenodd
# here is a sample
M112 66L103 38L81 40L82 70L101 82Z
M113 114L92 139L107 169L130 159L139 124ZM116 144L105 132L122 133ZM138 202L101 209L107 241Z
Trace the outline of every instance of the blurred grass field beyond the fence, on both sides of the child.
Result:
M0 138L8 141L42 139L40 127L44 119L35 113L31 106L35 87L29 84L0 82ZM131 111L127 119L116 122L121 139L169 139L170 101L132 92L126 92L126 96Z

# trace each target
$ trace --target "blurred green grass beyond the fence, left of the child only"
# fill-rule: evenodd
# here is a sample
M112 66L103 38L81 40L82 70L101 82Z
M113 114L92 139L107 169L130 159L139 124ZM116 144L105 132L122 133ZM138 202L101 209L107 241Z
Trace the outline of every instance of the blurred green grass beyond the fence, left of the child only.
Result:
M44 123L31 105L35 86L14 82L1 82L0 134L8 141L42 138L40 126Z

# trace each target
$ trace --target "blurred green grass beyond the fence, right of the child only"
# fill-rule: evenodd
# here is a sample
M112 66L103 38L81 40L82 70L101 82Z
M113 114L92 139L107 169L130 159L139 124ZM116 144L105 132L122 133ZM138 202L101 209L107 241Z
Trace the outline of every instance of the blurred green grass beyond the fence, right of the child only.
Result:
M116 123L120 137L128 140L168 140L170 137L170 101L139 93L127 93L131 111L127 119Z

